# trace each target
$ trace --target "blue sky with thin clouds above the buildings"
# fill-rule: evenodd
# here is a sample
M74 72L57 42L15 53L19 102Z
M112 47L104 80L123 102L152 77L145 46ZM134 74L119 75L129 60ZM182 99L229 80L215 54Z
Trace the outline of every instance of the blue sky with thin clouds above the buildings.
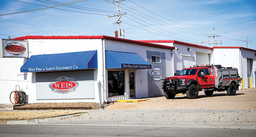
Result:
M0 14L75 1L78 0L1 0ZM62 10L48 8L0 15L0 38L27 35L114 37L118 26L113 24L116 21L113 17L108 17L117 14L114 4L108 4L106 0L87 0L71 5L55 7ZM125 0L120 2L119 11L127 13L120 18L121 29L125 30L125 36L121 38L206 42L201 45L213 46L208 42L213 43L213 38L208 36L213 36L215 29L215 35L220 35L215 40L217 43L222 41L222 44L215 46L246 48L246 42L242 41L246 41L248 36L248 41L252 41L248 43L248 48L256 50L255 0Z

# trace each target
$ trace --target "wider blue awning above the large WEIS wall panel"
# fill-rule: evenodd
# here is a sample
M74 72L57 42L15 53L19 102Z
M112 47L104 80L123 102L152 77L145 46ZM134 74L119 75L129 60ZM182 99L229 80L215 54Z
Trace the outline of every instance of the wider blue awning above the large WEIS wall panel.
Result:
M97 69L97 50L61 54L33 55L20 72Z

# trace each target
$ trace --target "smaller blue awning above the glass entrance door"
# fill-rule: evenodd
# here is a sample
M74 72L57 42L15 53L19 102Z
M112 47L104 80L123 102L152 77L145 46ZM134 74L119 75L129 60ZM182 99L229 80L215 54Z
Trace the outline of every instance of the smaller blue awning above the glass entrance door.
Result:
M106 51L106 68L151 69L151 64L138 54Z

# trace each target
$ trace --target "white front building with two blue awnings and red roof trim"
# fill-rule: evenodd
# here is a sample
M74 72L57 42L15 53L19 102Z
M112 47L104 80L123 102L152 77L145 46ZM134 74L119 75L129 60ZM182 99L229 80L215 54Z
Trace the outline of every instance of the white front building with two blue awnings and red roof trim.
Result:
M29 103L144 98L162 95L162 77L173 75L171 46L109 36L15 39L28 41L29 58L0 58L0 103L10 103L16 85Z

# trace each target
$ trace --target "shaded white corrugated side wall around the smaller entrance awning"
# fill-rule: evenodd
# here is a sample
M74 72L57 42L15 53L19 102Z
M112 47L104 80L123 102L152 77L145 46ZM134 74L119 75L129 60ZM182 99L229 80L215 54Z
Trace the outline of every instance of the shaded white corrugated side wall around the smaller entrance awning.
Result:
M155 47L149 47L149 46L143 46L138 44L132 44L132 43L124 43L124 42L117 42L117 41L110 41L105 40L105 47L106 51L119 51L119 52L129 52L129 53L136 53L139 56L141 56L144 60L147 60L147 51L154 51L154 52L162 52L166 55L166 76L170 76L173 74L173 71L171 71L172 67L172 56L171 56L171 50L169 49L160 49ZM149 62L149 61L148 61ZM151 69L150 69L151 71ZM128 96L129 93L129 72L128 70L125 71L125 91L126 95ZM147 69L138 69L135 70L135 81L136 81L136 98L145 98L148 97L148 71ZM143 82L141 83L141 79ZM127 98L124 96L116 96L108 98L109 101L117 101L117 99L124 99Z

